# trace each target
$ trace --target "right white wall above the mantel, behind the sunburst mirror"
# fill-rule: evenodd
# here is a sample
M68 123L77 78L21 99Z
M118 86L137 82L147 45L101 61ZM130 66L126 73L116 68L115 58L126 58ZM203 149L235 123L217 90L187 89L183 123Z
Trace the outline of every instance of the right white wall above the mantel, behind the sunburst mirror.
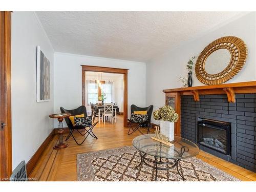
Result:
M222 36L237 36L243 39L248 48L248 57L244 68L231 82L255 80L256 77L256 19L255 12L231 20L218 29L214 29L197 39L173 50L167 50L162 55L146 63L146 103L153 104L154 109L165 104L163 89L181 87L178 76L187 76L186 63L191 56L198 56L213 40ZM193 86L203 85L193 73ZM153 120L154 121L154 120ZM156 122L156 121L155 121Z

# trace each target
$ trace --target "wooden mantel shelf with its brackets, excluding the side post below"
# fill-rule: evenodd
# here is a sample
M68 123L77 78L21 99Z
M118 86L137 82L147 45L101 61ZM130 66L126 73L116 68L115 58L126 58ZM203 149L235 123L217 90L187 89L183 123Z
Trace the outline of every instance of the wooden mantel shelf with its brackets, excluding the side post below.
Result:
M226 94L228 102L236 102L235 94L256 93L256 81L226 83L214 86L166 89L163 90L163 92L179 93L180 95L193 95L195 101L199 101L199 95Z

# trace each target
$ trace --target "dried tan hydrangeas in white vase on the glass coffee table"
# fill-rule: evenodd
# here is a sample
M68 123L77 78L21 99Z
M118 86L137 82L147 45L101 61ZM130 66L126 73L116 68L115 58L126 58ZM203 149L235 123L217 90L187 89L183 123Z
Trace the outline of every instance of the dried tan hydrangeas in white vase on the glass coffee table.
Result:
M165 105L154 111L155 120L160 120L160 133L169 137L170 141L174 140L174 123L178 120L179 115L175 113L172 106Z

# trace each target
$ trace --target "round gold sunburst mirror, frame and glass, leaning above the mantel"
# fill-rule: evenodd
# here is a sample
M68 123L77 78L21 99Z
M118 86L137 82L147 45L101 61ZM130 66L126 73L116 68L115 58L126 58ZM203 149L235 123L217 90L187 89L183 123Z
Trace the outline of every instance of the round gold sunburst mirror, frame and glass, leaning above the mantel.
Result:
M245 42L234 36L212 41L199 55L196 76L204 84L221 84L233 78L247 58Z

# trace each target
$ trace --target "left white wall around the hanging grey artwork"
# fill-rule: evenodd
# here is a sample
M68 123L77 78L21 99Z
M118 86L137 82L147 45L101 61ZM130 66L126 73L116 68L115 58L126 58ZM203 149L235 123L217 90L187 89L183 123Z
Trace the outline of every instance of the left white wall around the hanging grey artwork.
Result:
M51 63L51 100L36 102L36 46ZM12 13L13 169L26 163L52 131L54 50L34 12Z

